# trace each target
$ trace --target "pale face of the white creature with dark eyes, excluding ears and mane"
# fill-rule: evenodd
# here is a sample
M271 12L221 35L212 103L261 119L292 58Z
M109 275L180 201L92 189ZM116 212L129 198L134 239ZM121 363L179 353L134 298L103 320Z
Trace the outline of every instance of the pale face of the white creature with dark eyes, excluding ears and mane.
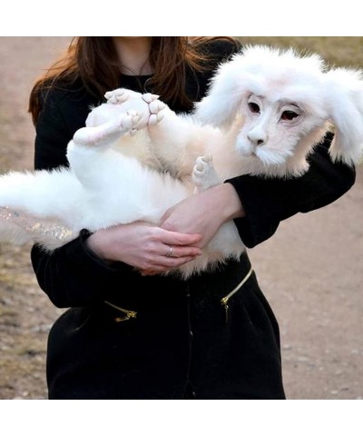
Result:
M266 165L286 163L300 139L323 125L326 116L321 111L314 111L312 116L304 104L280 95L249 94L240 111L244 124L236 142L237 150Z

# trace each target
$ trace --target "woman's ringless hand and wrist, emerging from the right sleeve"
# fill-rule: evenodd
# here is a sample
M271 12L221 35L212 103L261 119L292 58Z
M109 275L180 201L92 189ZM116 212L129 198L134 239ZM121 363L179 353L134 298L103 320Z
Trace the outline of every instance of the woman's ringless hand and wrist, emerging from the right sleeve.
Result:
M223 223L244 215L240 197L231 183L222 183L191 195L175 204L162 216L162 229L172 232L199 233L197 244L203 248Z

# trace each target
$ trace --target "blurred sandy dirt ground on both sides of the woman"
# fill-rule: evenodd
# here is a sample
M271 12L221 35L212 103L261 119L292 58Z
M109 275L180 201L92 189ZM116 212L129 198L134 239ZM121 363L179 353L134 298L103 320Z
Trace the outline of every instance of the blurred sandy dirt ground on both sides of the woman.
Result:
M0 37L0 172L31 169L26 113L37 75L67 37ZM289 399L363 399L363 168L336 203L281 223L250 250L280 322ZM46 337L62 312L39 289L29 246L0 244L0 399L45 399Z

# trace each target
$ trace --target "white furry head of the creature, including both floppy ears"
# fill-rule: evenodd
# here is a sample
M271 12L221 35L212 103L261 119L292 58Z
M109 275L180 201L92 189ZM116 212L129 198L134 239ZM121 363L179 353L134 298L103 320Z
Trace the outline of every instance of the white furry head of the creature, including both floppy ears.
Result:
M331 68L319 54L247 46L221 64L206 97L196 104L203 124L229 128L240 114L236 148L262 168L303 161L302 154L335 127L329 153L358 163L363 137L363 71ZM301 147L300 147L301 145ZM289 159L290 158L290 159ZM292 162L293 161L293 162Z

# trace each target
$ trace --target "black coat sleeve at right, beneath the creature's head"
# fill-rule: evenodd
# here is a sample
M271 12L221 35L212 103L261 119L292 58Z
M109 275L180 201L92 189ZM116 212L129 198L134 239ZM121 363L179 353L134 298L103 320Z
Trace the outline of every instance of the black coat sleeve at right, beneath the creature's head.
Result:
M308 213L335 202L355 183L354 167L332 163L329 144L332 134L309 156L309 171L291 179L242 175L231 183L240 196L245 217L235 220L240 238L247 247L266 241L280 221L296 213Z

